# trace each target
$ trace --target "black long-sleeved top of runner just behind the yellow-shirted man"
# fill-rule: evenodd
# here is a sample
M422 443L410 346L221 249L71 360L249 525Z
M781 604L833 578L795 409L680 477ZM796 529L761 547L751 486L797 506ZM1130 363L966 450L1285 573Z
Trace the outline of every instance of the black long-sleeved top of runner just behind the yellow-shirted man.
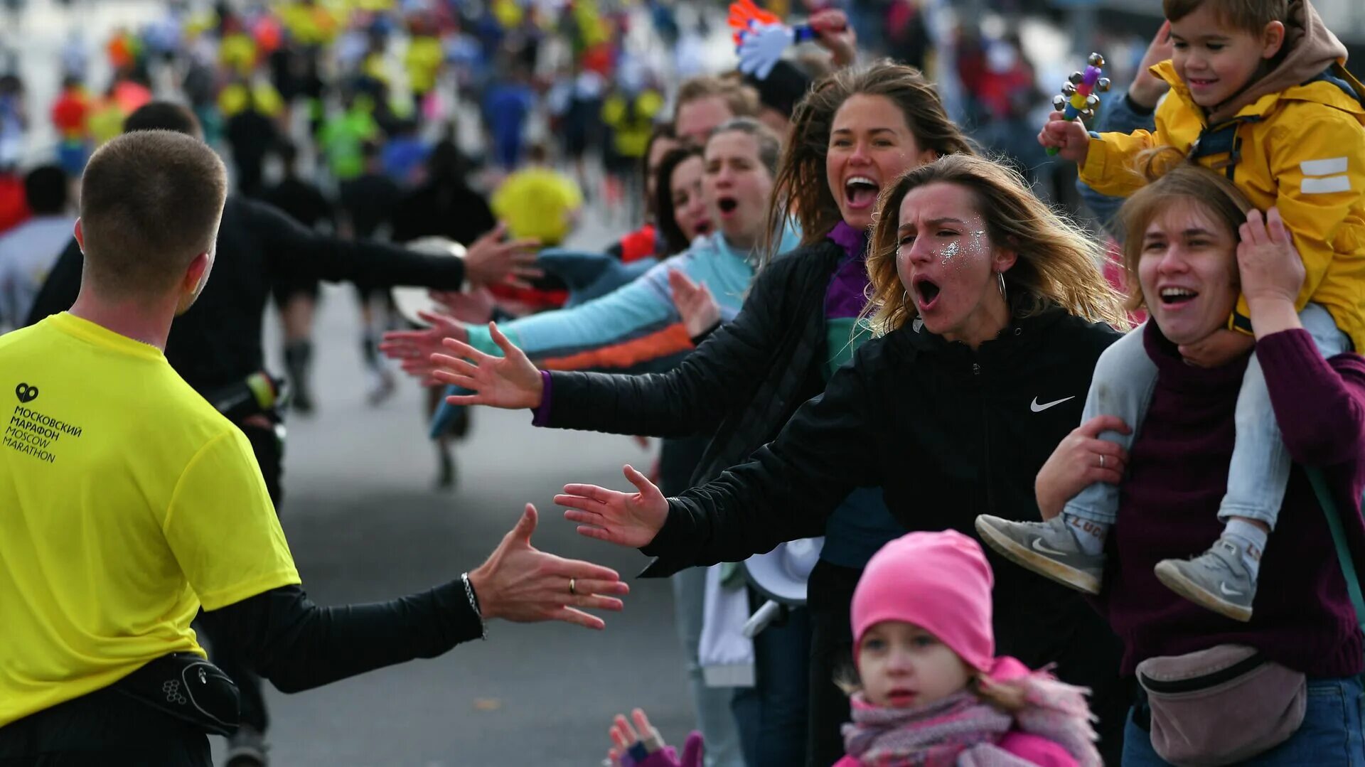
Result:
M81 291L83 262L79 246L71 240L34 300L27 325L71 308ZM171 325L171 367L201 393L261 370L261 323L272 283L307 278L459 289L464 263L374 242L322 236L269 205L229 197L209 283L199 300Z

